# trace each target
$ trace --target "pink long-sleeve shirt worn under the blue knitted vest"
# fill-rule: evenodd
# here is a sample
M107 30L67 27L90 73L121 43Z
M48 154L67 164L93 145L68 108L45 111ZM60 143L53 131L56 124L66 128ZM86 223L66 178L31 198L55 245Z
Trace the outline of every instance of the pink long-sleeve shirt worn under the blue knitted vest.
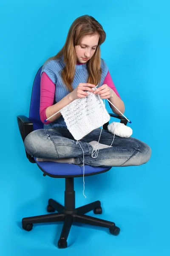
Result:
M109 71L105 77L103 84L107 84L116 93L116 95L120 98L119 93L117 92L116 87L113 84L113 81L112 81ZM51 81L49 76L45 72L42 72L41 83L40 83L40 119L46 125L48 123L50 123L50 121L48 120L47 122L44 122L44 120L47 119L45 111L46 111L46 108L54 105L54 96L55 96L56 86L57 86L57 84L55 85ZM109 103L109 105L111 106L110 103Z

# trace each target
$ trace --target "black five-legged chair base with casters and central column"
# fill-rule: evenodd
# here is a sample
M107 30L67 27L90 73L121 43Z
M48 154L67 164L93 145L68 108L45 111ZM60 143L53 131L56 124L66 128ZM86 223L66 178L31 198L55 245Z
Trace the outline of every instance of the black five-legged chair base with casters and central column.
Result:
M114 222L105 221L99 218L94 218L94 217L85 215L85 213L90 212L91 210L94 210L95 214L101 214L102 208L101 208L100 201L95 201L91 204L86 204L82 207L75 209L74 179L66 178L65 180L66 180L65 206L62 206L61 204L59 204L57 201L53 199L49 199L47 211L48 212L57 211L58 213L51 213L51 214L23 218L22 220L23 229L30 231L33 227L33 224L64 221L62 232L58 241L59 248L67 247L68 235L69 235L71 226L74 222L89 224L89 225L98 226L98 227L105 227L109 229L112 235L117 236L120 232L120 229L119 227L115 226Z

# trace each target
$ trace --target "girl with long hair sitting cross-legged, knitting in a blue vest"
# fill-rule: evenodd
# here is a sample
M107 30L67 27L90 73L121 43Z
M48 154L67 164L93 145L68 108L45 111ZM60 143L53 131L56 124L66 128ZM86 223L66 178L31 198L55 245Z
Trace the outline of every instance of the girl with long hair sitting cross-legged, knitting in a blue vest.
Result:
M124 102L119 96L105 61L100 58L100 45L105 41L105 31L91 16L83 15L72 23L64 47L49 58L41 71L40 118L44 129L31 132L24 144L28 154L38 161L84 163L90 166L136 166L150 159L150 147L135 138L122 138L100 128L93 130L80 144L68 131L61 113L47 122L45 119L73 102L84 98L88 91L109 99L122 113ZM99 84L98 90L92 90ZM114 113L119 112L112 105ZM83 129L83 127L82 127ZM99 140L96 158L92 151ZM112 147L109 147L112 144ZM83 151L82 151L83 149Z

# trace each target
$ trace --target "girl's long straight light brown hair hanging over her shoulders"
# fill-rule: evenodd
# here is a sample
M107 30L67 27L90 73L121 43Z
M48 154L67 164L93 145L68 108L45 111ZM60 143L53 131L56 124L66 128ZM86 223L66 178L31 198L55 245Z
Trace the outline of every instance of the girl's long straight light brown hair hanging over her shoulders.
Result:
M103 30L102 25L97 20L95 20L94 17L83 15L74 20L68 31L65 45L57 53L57 55L48 59L56 60L62 55L64 56L65 67L61 72L62 81L70 91L73 90L71 84L74 80L75 65L77 63L77 56L74 46L80 44L81 38L83 36L94 34L99 35L99 43L96 47L94 55L87 62L87 69L89 74L87 82L97 85L101 79L102 74L102 69L100 67L100 45L105 41L106 33Z

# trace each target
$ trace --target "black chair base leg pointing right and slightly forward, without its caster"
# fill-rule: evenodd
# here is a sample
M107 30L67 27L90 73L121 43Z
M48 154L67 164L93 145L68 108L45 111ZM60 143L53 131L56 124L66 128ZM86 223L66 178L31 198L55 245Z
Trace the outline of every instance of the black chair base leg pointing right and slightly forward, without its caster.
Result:
M81 214L74 214L74 221L79 222L79 223L84 223L84 224L89 224L93 226L98 226L98 227L107 227L107 228L112 228L115 227L115 223L111 221L105 221L99 218L94 218L88 215L81 215Z

